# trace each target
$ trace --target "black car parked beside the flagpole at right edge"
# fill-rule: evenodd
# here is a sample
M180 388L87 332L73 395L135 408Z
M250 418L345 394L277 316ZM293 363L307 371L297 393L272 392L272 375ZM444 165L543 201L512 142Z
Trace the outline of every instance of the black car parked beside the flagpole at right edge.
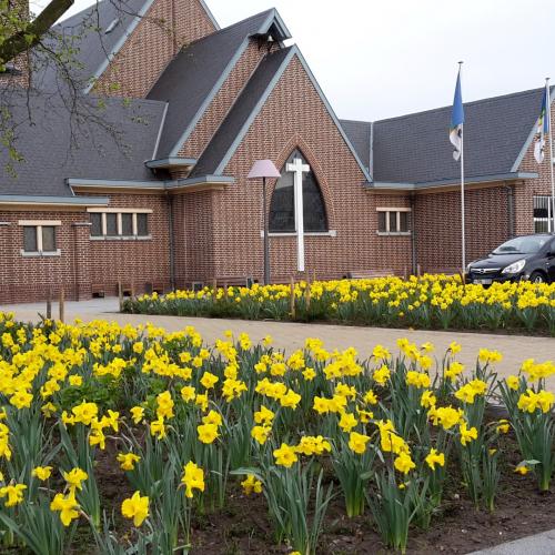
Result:
M466 282L490 285L494 281L555 282L555 235L537 233L511 239L486 258L471 262Z

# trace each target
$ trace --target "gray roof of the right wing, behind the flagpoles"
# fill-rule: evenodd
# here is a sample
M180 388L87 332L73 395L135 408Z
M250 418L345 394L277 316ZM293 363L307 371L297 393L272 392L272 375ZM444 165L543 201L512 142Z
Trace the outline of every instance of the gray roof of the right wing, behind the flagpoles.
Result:
M539 115L543 89L464 104L465 173L473 176L514 172ZM461 164L448 140L452 107L374 122L373 181L431 183L456 180ZM369 160L367 122L342 122L359 155Z

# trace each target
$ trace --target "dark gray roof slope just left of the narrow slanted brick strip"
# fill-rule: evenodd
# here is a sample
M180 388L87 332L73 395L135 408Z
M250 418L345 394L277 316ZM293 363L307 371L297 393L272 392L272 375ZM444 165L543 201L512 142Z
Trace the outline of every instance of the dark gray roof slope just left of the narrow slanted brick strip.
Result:
M195 123L195 117L211 100L211 94L220 88L245 39L259 33L274 12L266 10L209 34L190 44L168 64L148 95L169 102L158 158L175 155L173 149Z

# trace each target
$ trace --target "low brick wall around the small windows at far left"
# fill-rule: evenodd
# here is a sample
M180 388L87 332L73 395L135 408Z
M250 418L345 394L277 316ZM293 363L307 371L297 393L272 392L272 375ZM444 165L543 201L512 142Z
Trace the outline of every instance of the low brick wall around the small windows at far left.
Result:
M110 194L110 208L152 209L149 230L152 239L91 240L89 214L80 211L0 211L0 303L43 301L48 291L58 296L63 286L67 299L90 299L91 286L107 294L118 292L118 281L133 284L137 293L148 282L170 285L169 230L165 196ZM59 220L59 256L23 256L23 229L19 220Z

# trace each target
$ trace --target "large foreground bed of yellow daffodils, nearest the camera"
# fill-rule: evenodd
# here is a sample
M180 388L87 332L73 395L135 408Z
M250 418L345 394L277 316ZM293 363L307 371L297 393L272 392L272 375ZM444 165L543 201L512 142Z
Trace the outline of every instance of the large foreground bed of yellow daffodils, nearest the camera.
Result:
M495 351L466 373L455 342L437 362L431 344L397 345L359 361L312 339L285 356L246 334L206 346L192 327L0 317L0 538L41 554L221 553L222 523L251 519L266 529L256 552L349 551L341 531L404 552L454 502L473 507L467 525L506 515L521 488L543 500L523 534L545 525L555 365L498 381Z

